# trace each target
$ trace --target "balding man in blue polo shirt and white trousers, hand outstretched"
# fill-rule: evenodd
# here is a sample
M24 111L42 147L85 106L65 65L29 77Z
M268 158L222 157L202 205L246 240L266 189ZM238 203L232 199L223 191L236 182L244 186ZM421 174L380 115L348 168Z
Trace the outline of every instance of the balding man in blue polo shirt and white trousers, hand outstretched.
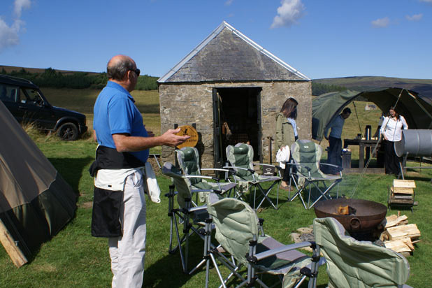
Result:
M108 237L112 287L142 287L145 257L145 195L143 167L149 149L175 147L189 136L170 129L154 137L130 92L140 70L133 59L117 55L107 66L108 84L94 104L94 138L99 143L94 175L92 235Z

